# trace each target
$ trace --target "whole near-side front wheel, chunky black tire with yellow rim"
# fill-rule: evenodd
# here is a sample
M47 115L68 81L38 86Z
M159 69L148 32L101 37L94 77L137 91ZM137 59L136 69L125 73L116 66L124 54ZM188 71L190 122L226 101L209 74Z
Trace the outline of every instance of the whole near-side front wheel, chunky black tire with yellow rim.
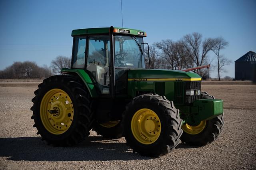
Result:
M135 97L123 114L127 145L143 156L158 157L172 151L180 143L181 125L179 110L164 96Z

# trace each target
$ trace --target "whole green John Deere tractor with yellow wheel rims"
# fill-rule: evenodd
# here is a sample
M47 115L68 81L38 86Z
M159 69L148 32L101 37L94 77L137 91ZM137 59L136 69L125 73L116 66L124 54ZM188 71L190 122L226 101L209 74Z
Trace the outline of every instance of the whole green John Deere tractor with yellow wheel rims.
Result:
M199 75L145 68L146 32L111 26L72 37L71 69L44 79L32 99L34 127L48 144L72 146L92 129L155 157L180 140L203 146L221 134L223 101L200 91Z

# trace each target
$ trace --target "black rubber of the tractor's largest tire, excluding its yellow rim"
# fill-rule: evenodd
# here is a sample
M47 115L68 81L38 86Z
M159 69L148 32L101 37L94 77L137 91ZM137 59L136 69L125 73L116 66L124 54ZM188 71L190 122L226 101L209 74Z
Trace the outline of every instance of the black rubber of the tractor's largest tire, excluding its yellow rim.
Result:
M53 140L46 132L42 132L42 130L40 130L44 129L44 127L42 127L42 123L39 123L40 111L39 109L36 110L36 108L40 108L41 101L39 101L39 95L41 91L47 87L48 83L52 82L66 85L66 87L74 94L75 101L72 102L76 102L78 106L78 112L76 112L78 114L78 122L77 125L75 125L75 129L72 131L72 134L60 140ZM35 97L32 99L34 104L31 107L31 110L33 111L31 119L34 119L35 122L33 127L38 129L37 134L40 134L42 136L42 140L46 140L47 144L52 144L53 146L72 146L90 134L89 130L92 128L92 123L94 121L92 105L90 103L88 90L79 79L70 75L56 75L49 77L44 79L44 81L38 85L38 89L34 91L34 94Z

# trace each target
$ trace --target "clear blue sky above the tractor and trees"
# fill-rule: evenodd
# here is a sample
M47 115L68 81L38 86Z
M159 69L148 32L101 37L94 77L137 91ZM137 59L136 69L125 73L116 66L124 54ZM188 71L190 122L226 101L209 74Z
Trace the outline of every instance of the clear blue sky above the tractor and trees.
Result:
M0 70L14 61L50 65L58 55L71 56L71 31L122 27L120 0L0 0ZM222 36L222 54L233 62L256 52L256 0L122 0L125 28L147 32L144 42L179 40L192 32ZM209 53L209 57L213 57ZM213 61L214 63L214 61ZM216 71L211 77L216 77Z

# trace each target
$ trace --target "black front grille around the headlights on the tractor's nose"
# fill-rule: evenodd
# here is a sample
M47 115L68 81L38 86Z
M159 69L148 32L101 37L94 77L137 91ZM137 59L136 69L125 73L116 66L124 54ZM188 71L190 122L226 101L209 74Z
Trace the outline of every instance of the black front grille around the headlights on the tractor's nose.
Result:
M185 91L186 90L201 90L201 81L188 81L185 83ZM185 104L190 104L194 103L195 100L198 100L201 98L201 95L193 95L193 96L188 96L186 95L185 97Z

